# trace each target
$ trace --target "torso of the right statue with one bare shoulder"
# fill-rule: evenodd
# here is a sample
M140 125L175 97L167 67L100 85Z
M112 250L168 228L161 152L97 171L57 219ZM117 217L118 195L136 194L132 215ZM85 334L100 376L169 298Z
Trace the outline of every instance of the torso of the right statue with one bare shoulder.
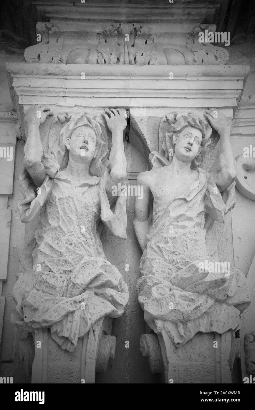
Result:
M204 228L207 174L198 170L186 179L178 175L169 178L167 167L164 168L156 170L150 179L153 219L140 268L144 275L169 280L176 271L207 253Z

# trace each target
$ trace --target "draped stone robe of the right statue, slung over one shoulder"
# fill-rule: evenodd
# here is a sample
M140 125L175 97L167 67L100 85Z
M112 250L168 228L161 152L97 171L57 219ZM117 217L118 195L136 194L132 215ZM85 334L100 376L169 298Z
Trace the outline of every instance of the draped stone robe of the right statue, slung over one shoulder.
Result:
M150 160L156 167L169 164L158 153L152 153ZM155 333L165 329L176 347L198 332L237 329L239 311L250 303L244 274L234 267L209 269L218 265L205 245L204 210L224 222L235 205L235 182L221 194L213 174L196 171L198 180L154 215L137 285L145 321Z

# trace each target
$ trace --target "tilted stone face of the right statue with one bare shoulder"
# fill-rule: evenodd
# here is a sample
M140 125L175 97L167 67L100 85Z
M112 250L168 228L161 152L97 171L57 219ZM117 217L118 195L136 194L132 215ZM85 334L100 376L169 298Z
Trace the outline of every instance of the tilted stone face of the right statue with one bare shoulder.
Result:
M202 132L197 128L185 127L173 135L175 155L184 162L192 162L201 151Z

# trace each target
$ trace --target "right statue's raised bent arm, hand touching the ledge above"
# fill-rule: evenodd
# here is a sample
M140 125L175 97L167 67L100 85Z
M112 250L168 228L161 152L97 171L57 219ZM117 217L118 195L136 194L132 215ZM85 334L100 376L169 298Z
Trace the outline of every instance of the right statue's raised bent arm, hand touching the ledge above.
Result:
M216 185L222 192L237 177L236 161L230 142L230 125L225 115L219 110L205 110L204 116L220 136L220 153L214 159L213 169L216 175Z

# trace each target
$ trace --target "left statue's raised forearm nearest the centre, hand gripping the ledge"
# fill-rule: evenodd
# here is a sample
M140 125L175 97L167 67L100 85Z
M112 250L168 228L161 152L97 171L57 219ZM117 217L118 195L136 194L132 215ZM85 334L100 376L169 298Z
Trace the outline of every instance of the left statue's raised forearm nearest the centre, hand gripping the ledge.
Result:
M108 114L110 118L108 117ZM126 128L124 113L120 109L106 110L104 118L112 133L112 147L109 157L111 172L106 182L106 193L112 196L113 187L123 184L126 179L126 157L124 153L123 131Z

